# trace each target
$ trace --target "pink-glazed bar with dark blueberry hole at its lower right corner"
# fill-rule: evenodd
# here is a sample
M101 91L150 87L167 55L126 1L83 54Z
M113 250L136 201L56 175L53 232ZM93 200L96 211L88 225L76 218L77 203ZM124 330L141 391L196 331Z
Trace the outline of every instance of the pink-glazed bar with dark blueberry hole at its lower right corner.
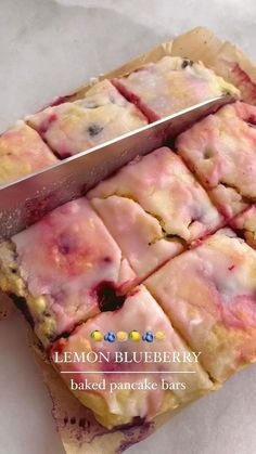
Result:
M131 271L85 198L53 210L0 245L0 287L44 346L100 311L118 307Z

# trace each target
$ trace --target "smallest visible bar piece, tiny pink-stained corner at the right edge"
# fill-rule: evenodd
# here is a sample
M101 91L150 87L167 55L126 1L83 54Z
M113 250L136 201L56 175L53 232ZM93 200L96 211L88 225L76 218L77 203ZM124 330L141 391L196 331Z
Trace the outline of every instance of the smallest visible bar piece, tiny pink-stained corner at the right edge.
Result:
M230 221L230 225L247 244L256 249L256 205L252 205Z

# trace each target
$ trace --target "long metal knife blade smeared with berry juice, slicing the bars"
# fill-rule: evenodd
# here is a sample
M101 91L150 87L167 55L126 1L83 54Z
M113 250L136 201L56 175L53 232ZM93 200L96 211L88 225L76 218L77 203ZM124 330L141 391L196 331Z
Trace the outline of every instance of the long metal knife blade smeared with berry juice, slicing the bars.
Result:
M2 186L0 241L26 229L52 209L85 195L136 156L163 146L168 139L233 101L232 95L214 98Z

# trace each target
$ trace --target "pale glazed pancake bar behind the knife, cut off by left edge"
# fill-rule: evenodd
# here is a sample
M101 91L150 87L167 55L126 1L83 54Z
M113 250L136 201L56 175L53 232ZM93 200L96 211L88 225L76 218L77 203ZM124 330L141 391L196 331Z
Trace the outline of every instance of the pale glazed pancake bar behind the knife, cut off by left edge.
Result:
M40 135L22 120L0 135L0 185L56 163Z

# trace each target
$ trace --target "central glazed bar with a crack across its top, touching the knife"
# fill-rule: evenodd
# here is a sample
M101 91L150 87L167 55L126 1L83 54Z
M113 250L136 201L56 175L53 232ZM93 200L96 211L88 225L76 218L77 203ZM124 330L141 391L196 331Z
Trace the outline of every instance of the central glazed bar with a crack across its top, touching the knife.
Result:
M88 198L141 278L222 222L204 189L167 147L123 167Z

